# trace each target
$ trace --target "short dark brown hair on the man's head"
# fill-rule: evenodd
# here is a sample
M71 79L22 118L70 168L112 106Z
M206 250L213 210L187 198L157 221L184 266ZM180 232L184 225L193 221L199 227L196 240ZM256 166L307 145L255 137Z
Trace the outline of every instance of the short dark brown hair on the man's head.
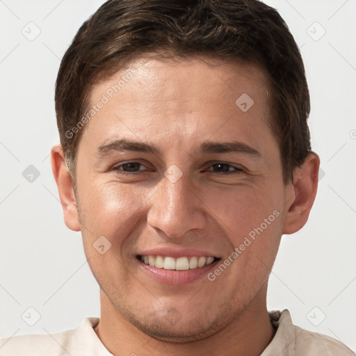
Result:
M76 33L56 81L60 143L74 180L83 130L68 132L83 118L90 89L149 52L218 56L264 68L284 183L292 179L311 152L309 90L300 51L277 10L257 0L109 0Z

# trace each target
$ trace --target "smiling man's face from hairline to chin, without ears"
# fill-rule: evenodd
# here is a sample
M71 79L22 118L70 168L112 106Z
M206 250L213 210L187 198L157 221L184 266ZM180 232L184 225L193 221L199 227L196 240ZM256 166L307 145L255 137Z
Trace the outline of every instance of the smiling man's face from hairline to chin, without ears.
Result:
M288 186L266 76L215 64L133 61L112 97L125 72L92 89L91 105L108 102L77 151L83 244L103 300L159 339L207 337L264 300L282 235ZM102 252L111 243L103 254L99 236Z

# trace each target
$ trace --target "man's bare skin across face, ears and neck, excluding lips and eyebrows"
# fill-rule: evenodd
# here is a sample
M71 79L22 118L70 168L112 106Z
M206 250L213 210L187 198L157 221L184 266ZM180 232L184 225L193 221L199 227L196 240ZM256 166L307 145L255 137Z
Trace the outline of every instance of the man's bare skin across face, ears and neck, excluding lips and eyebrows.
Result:
M137 70L133 79L83 129L75 195L62 149L51 152L65 223L81 230L100 286L95 332L114 355L260 355L275 334L266 309L268 276L282 234L307 222L318 156L309 154L284 184L259 67L153 56L129 67ZM95 85L91 103L123 73ZM235 104L243 93L254 100L247 112ZM97 147L120 138L155 145L161 153L98 155ZM205 141L232 140L259 155L200 152ZM130 161L142 164L136 175L124 175L127 166L113 169ZM216 163L241 170L224 165L229 172L221 172ZM173 164L182 173L175 183L164 175ZM280 216L213 282L202 277L170 286L138 268L138 252L162 245L198 248L224 261L276 210ZM103 235L111 248L99 254L93 243Z

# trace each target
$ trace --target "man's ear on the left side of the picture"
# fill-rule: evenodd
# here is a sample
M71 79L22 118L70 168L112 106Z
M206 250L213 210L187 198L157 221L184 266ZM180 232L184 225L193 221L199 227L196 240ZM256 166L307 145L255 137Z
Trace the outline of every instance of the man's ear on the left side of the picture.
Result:
M76 199L74 196L73 182L70 172L65 164L61 145L52 147L51 164L54 179L58 186L60 203L62 204L65 225L73 231L80 231Z

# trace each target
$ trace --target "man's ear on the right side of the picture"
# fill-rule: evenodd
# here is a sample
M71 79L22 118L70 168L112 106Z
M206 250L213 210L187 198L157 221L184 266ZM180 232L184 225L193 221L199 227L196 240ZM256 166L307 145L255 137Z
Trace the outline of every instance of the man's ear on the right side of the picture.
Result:
M307 223L318 188L320 159L317 154L308 154L300 168L293 172L293 182L286 188L286 213L283 234L293 234Z

